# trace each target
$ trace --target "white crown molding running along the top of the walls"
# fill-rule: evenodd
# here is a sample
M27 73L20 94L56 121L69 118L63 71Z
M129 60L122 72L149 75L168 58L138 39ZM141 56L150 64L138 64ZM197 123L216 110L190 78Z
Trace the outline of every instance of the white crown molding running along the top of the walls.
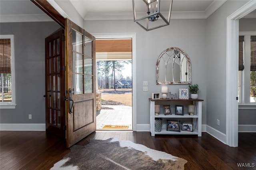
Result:
M68 15L60 8L54 0L47 0L64 18L69 18ZM227 0L214 0L210 6L204 11L172 11L171 19L207 19ZM88 13L82 8L80 1L70 1L71 4L79 12L79 15L84 21L100 21L100 20L133 20L133 13ZM48 22L53 21L46 14L33 15L1 15L1 22Z

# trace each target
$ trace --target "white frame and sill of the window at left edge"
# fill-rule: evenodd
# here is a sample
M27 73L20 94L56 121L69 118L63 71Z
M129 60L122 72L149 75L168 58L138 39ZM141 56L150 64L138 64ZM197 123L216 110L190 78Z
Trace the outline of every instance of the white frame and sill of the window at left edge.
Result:
M12 101L0 103L1 109L15 109L16 107L16 87L15 87L15 48L14 35L0 35L0 39L11 39L11 71L12 71ZM9 107L7 107L7 105Z

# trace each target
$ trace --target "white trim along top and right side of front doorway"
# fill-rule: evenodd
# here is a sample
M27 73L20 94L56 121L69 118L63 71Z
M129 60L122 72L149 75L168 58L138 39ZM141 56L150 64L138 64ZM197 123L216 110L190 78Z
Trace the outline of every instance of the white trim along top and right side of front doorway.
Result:
M132 130L137 131L136 33L92 34L95 38L132 38Z

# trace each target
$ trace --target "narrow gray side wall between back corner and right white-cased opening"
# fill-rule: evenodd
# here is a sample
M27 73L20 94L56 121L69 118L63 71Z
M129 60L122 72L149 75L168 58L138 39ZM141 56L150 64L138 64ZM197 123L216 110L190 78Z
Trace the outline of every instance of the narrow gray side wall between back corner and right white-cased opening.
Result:
M207 125L226 134L227 17L248 1L226 1L206 21ZM220 120L220 126L216 124Z

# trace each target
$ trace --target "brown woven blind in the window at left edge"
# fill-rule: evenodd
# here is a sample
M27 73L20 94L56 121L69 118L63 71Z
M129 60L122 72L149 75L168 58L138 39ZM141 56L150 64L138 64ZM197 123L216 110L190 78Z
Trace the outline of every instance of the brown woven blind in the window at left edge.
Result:
M12 73L11 39L0 39L0 73Z

